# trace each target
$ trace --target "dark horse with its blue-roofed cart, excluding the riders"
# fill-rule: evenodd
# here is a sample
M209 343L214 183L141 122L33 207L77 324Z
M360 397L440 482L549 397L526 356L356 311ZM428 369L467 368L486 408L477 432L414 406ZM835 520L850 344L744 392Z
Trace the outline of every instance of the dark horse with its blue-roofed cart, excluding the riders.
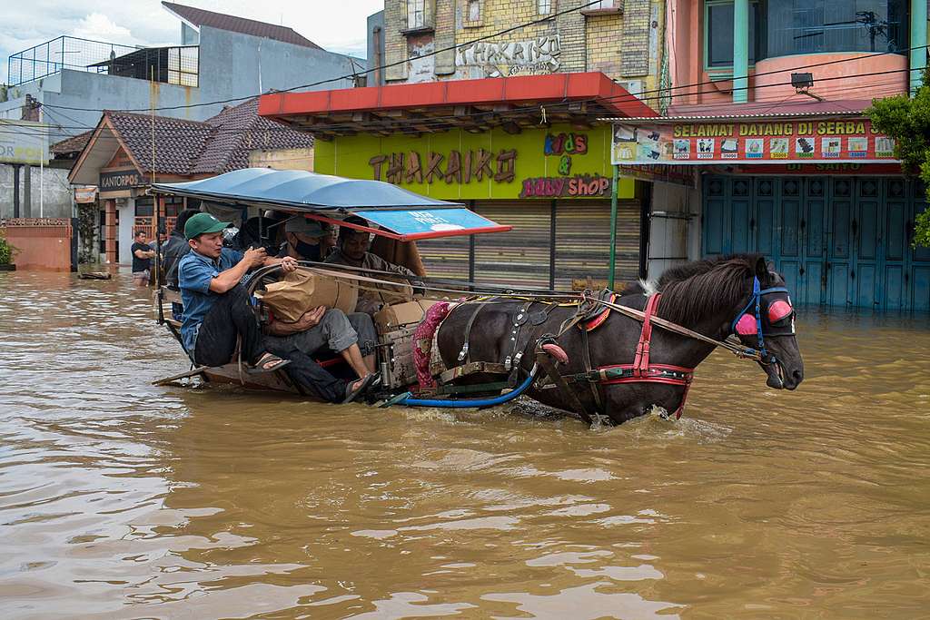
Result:
M250 209L268 209L279 214L278 224L307 218L367 231L383 257L395 261L419 262L419 240L510 230L461 204L388 183L303 171L238 170L154 184L151 191L233 209L244 221ZM365 225L345 221L350 216ZM259 237L271 241L276 231L263 230L262 221ZM482 286L433 279L421 269L407 281L305 261L299 270L340 287L384 293L375 321L381 384L371 396L384 406L486 407L525 394L587 422L618 423L653 407L680 416L694 368L716 347L760 363L770 387L794 389L803 377L788 291L761 257L701 261L671 270L658 291L640 285L620 295ZM280 276L269 267L247 281L259 320L266 292ZM158 287L158 321L180 342L168 304L177 313L177 291ZM336 375L347 370L338 357L319 363ZM203 367L192 360L190 371L157 383L193 376L313 397L286 368L249 375L236 361Z

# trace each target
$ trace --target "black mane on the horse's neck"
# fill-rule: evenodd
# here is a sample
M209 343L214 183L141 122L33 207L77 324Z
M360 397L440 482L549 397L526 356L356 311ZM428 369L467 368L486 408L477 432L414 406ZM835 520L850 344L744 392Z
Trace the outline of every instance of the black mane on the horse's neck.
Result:
M662 294L658 315L682 323L733 308L746 296L746 277L755 272L759 258L756 254L713 257L666 270L656 285Z

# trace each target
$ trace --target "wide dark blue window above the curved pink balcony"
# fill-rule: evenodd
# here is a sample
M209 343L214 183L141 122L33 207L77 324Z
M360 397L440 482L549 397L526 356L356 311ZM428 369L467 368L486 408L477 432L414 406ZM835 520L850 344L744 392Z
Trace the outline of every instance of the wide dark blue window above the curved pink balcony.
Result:
M769 0L768 55L906 50L908 4L908 0Z

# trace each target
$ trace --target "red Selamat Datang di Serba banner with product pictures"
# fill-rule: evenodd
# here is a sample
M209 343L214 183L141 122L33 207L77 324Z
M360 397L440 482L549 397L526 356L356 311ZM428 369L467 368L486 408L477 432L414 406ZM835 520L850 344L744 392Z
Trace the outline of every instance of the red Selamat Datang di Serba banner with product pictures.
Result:
M614 125L612 164L895 162L868 119Z

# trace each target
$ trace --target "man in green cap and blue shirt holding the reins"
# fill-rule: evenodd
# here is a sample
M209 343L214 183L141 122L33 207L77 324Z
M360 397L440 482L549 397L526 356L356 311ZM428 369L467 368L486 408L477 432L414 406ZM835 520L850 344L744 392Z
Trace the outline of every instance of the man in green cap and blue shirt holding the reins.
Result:
M198 213L184 224L184 237L191 251L179 261L178 280L184 312L180 334L194 362L221 366L233 359L241 338L242 358L250 373L278 370L289 361L261 347L261 330L250 308L246 289L239 283L256 267L281 265L297 269L291 257L271 258L264 248L244 253L223 247L221 222L208 213Z

